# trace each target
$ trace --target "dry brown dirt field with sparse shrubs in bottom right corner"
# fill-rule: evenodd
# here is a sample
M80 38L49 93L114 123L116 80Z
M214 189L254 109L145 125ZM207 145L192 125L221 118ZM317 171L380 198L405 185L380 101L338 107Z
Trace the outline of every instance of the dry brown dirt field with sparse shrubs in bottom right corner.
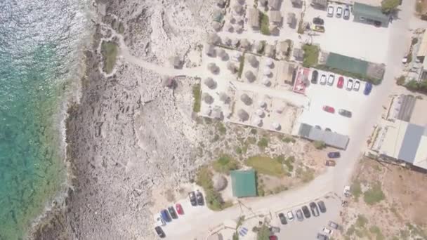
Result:
M362 159L338 239L427 239L427 174Z

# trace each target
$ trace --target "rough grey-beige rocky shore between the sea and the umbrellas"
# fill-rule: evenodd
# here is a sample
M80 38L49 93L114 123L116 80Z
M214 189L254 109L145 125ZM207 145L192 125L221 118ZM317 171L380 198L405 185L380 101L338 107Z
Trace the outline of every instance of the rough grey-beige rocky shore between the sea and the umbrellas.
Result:
M199 13L203 8L211 12L213 3L98 4L105 4L106 15L95 21L91 49L85 51L81 100L70 105L66 120L72 187L30 239L152 239L152 190L188 182L206 161L194 151L201 138L192 121L191 86L197 80L183 78L171 90L162 85L162 76L123 58L107 76L100 72L98 49L102 39L122 32L133 55L165 65L202 41L209 15ZM172 17L188 30L176 29L177 21L168 21Z

